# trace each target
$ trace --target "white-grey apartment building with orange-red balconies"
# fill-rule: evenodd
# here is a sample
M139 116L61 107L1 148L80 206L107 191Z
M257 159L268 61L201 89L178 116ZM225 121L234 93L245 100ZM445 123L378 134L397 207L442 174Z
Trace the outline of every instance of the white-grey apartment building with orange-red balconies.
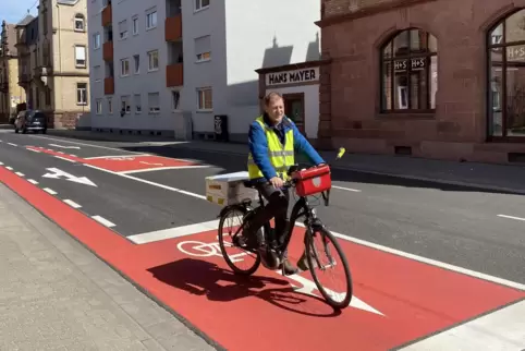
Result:
M319 59L320 2L88 0L90 129L244 142L255 70Z

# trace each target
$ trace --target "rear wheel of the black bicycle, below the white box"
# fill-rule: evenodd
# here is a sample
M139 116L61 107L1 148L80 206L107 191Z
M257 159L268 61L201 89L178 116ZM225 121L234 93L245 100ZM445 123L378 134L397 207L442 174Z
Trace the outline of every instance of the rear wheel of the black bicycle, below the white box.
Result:
M230 215L239 215L239 218L232 220L231 227L228 226L228 219ZM237 229L243 222L243 218L248 213L248 209L244 206L231 206L224 211L221 219L219 220L219 246L221 249L222 257L227 262L228 266L233 270L233 273L243 276L253 275L260 265L260 255L258 252L251 251L249 247L241 247L236 242L233 241L233 235L236 233ZM242 230L237 233L237 237L242 237ZM230 237L232 240L230 242L224 241L225 237ZM234 252L237 253L234 253ZM239 264L239 265L237 265ZM241 266L241 267L240 267ZM245 266L242 268L242 266Z

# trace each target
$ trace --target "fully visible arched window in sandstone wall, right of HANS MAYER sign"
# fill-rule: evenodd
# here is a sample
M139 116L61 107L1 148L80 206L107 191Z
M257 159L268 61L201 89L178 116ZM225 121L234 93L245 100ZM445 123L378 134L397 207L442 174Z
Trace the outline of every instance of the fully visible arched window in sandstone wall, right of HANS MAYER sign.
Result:
M438 89L438 40L408 28L381 48L381 112L431 112Z

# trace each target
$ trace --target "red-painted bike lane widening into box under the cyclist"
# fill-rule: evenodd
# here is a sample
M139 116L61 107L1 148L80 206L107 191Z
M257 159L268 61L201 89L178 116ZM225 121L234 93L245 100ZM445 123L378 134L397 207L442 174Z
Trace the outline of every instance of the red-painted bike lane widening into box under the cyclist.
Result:
M3 168L0 180L229 350L392 349L525 298L525 291L340 240L355 298L337 313L315 296L309 273L282 277L261 266L248 278L233 275L217 231L136 245ZM301 255L303 231L295 229L291 258Z

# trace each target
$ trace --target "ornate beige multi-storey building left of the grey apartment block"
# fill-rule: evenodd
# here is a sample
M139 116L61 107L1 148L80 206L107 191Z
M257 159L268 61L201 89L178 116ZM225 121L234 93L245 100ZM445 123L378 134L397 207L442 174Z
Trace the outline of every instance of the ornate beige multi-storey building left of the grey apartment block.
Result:
M16 25L19 84L27 107L52 128L75 128L89 114L87 0L40 0L38 16Z

